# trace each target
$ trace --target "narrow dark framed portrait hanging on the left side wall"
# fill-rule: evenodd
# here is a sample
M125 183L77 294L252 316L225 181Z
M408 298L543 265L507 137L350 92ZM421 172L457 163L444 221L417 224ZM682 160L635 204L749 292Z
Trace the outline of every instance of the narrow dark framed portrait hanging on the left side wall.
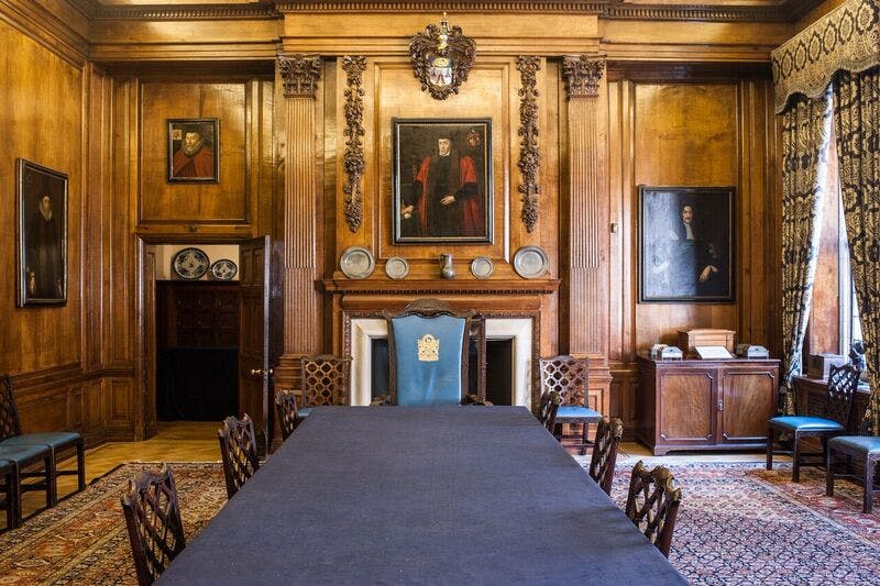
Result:
M18 159L18 307L67 303L67 175Z

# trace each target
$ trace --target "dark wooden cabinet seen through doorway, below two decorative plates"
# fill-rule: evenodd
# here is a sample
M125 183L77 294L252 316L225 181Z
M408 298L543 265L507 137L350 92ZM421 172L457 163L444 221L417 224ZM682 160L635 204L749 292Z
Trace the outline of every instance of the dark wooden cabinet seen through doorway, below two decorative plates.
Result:
M238 414L239 284L158 281L156 306L158 419Z

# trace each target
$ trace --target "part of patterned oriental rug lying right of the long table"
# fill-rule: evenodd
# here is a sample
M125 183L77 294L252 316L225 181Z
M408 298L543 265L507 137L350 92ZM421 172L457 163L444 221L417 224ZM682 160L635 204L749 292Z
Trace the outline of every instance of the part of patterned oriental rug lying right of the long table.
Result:
M789 464L666 465L682 487L670 561L691 583L880 583L880 513L861 512L860 486L838 480L826 497L817 468L795 484ZM622 508L631 469L615 474Z

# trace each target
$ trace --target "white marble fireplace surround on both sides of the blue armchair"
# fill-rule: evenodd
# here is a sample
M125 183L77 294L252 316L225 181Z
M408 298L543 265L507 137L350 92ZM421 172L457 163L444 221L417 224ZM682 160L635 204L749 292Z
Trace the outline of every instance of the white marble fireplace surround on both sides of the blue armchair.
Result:
M388 336L384 319L352 318L351 405L370 405L374 339ZM531 409L531 318L487 318L486 340L512 340L513 403Z

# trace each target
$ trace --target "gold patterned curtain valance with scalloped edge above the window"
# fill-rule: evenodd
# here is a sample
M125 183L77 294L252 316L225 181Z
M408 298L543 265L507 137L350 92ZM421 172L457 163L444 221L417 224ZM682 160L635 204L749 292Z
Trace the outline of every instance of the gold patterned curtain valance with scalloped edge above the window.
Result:
M771 54L776 112L795 95L818 98L839 69L880 65L880 0L846 0Z

